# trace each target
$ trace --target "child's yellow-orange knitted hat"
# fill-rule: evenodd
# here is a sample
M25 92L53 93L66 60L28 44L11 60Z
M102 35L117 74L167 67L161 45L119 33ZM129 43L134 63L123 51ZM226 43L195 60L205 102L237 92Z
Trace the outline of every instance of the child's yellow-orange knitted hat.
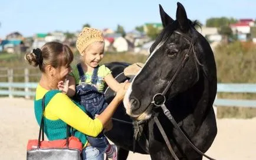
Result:
M99 29L85 27L77 37L77 49L80 54L93 42L104 42L103 32Z

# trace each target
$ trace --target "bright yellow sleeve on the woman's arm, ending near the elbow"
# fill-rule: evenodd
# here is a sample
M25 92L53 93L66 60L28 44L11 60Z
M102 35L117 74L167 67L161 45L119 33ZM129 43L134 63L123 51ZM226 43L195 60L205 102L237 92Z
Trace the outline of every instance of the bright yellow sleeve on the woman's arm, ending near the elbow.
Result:
M103 130L102 122L91 119L71 99L62 93L54 95L45 108L45 117L51 120L61 119L83 134L97 136Z

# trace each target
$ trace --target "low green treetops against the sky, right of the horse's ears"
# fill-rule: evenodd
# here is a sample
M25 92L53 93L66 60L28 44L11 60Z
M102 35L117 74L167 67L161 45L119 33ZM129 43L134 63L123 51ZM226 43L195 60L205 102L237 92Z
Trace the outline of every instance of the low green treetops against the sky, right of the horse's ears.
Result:
M227 18L222 16L221 18L209 18L206 20L207 27L221 27L221 26L228 26L230 24L237 23L237 19L235 18Z

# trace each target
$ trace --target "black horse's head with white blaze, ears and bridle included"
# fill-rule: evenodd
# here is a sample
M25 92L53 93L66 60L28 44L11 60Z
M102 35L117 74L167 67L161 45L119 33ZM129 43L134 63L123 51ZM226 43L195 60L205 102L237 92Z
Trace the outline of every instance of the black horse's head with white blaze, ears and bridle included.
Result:
M195 85L201 73L212 75L207 71L208 64L215 66L211 47L187 18L183 5L177 5L175 21L159 5L163 30L124 97L127 114L138 120L150 118L152 108L165 101L161 95L168 100Z

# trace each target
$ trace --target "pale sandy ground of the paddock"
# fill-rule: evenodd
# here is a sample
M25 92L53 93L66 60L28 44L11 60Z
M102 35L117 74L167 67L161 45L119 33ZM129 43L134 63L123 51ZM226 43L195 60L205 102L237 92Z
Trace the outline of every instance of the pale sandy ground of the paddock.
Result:
M0 98L0 159L25 159L29 138L38 137L33 101ZM206 154L215 159L256 159L256 118L218 119L218 135ZM133 154L128 159L150 159ZM204 158L206 159L206 158Z

